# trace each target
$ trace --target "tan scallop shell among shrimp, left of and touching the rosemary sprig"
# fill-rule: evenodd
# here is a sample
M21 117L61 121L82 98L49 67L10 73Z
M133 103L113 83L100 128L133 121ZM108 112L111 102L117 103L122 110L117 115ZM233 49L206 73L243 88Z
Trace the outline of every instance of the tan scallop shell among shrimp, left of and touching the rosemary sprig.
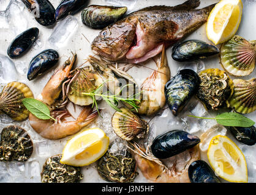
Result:
M90 105L93 103L92 98L83 93L96 90L102 83L103 80L98 74L91 73L85 68L76 69L75 76L70 82L67 97L74 104ZM102 93L102 90L97 91L97 93ZM96 99L99 99L99 97L96 97Z

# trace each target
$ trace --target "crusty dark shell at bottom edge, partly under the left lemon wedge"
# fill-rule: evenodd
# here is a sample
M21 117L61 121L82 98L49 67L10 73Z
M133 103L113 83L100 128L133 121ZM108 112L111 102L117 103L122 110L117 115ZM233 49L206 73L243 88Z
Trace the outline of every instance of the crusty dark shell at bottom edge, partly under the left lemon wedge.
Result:
M59 162L62 155L47 158L41 172L42 183L78 183L83 179L81 168Z

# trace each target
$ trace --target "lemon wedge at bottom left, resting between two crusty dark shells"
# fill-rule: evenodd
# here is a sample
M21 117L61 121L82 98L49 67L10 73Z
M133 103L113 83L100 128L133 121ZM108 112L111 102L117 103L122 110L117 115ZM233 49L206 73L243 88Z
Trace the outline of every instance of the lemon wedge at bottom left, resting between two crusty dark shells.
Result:
M67 141L61 163L86 166L102 157L108 149L109 138L99 128L83 130Z

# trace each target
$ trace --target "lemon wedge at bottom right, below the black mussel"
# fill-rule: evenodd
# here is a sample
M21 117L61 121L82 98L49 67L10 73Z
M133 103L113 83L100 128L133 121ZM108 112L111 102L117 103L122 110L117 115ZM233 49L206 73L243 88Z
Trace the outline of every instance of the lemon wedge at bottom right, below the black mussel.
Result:
M213 137L207 152L208 160L216 174L228 182L248 182L244 154L228 137Z

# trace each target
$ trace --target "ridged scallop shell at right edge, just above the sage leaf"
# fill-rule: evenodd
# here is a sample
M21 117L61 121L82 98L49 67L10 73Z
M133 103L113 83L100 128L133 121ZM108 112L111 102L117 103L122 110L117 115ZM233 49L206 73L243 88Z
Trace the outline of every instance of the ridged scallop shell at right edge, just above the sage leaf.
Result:
M256 79L233 80L234 93L228 100L230 107L239 113L250 113L256 110Z

